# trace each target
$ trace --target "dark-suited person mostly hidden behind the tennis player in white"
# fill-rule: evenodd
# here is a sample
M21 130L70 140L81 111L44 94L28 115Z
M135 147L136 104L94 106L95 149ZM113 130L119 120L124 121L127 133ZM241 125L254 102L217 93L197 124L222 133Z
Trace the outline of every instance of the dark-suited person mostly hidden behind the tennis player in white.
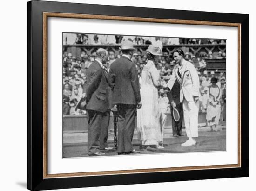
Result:
M182 103L180 102L180 84L177 80L171 89L168 91L168 98L171 104L171 116L172 116L172 134L173 137L183 136L182 134L182 120L183 120L183 108ZM174 120L173 116L173 107L175 107L180 115L179 121Z

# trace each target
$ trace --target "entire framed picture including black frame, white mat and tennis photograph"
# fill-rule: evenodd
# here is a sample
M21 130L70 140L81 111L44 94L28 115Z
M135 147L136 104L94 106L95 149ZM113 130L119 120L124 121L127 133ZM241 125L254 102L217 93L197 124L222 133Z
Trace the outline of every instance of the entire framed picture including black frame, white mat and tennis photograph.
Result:
M27 6L29 190L249 176L249 15Z

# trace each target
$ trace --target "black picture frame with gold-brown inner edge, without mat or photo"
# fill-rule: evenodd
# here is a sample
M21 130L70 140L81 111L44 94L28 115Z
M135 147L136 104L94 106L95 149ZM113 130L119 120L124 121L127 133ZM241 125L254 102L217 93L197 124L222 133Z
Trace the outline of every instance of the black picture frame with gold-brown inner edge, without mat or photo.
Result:
M30 1L28 2L27 7L27 188L29 190L64 189L249 176L249 15L49 1ZM217 166L48 174L48 17L237 27L238 163Z

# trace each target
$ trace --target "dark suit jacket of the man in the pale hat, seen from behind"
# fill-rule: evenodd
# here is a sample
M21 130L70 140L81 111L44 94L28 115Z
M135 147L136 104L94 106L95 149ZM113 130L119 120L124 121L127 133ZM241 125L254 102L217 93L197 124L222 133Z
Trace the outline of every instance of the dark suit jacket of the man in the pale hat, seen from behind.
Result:
M135 64L128 57L115 60L109 70L113 104L136 105L141 101L140 84Z

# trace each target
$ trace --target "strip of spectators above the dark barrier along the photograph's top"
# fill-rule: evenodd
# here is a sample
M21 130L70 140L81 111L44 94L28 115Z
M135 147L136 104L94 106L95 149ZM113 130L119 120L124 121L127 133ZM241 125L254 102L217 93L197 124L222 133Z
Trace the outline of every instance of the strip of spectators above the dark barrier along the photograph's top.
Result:
M205 38L168 38L168 37L140 37L123 35L99 35L64 33L63 45L105 45L120 44L123 40L131 40L135 45L150 45L157 40L161 40L163 45L190 45L190 44L212 44L224 45L225 40L205 39Z

